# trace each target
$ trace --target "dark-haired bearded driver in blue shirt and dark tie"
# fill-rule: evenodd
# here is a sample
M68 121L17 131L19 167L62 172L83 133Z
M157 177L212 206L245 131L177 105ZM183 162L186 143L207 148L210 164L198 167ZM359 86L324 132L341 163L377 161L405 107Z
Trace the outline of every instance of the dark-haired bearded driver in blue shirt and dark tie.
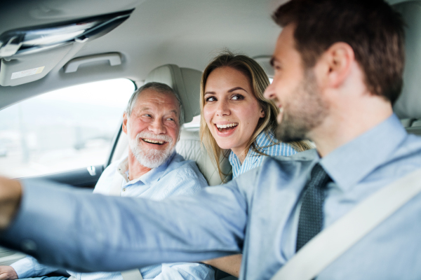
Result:
M276 135L283 141L312 139L317 151L268 158L260 168L194 197L138 199L131 207L109 197L4 180L0 217L8 228L1 239L14 248L31 245L25 250L45 262L86 269L128 269L243 252L240 278L270 279L288 261L306 256L306 248L341 225L338 221L368 197L419 169L421 138L408 135L392 111L402 86L400 15L382 0L291 0L276 10L274 19L283 29L272 59L274 80L265 96L281 111ZM389 193L387 204L405 189ZM54 205L44 206L50 201L65 204L60 213ZM92 229L71 232L80 228L77 221L92 203L105 204L87 219ZM421 223L416 222L421 195L402 205L302 279L421 279ZM342 238L365 226L368 214L387 213L377 204L367 209L354 227L342 227L342 234L333 235L326 246L330 241L341 245ZM118 223L123 216L131 216L131 223ZM105 223L98 223L104 217ZM34 218L51 223L47 232L36 230ZM116 241L127 230L137 237ZM93 232L101 239L89 239ZM112 246L102 248L104 241ZM64 251L52 250L57 246ZM320 263L331 253L326 246L317 247L311 261L296 270L306 272ZM64 261L67 250L83 258ZM128 250L136 260L128 258Z

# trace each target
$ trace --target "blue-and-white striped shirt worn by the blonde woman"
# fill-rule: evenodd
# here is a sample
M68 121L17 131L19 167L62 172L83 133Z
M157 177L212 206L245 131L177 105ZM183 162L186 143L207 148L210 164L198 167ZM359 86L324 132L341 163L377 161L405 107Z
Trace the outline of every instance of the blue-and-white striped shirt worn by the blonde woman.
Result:
M295 153L297 153L297 151L295 151L293 147L291 147L288 144L280 142L276 145L272 145L274 144L274 142L278 143L278 140L276 140L274 134L260 132L254 143L255 148L258 148L258 151L264 153L265 155L270 155L272 157L276 155L294 155ZM260 155L259 153L256 153L255 151L253 151L253 148L250 147L248 149L248 153L246 155L246 158L244 159L243 164L241 164L236 154L233 151L231 151L231 153L229 153L228 160L232 166L232 177L235 178L236 176L239 176L244 172L248 172L248 170L250 169L260 167L260 165L262 165L262 161L265 158L265 155Z

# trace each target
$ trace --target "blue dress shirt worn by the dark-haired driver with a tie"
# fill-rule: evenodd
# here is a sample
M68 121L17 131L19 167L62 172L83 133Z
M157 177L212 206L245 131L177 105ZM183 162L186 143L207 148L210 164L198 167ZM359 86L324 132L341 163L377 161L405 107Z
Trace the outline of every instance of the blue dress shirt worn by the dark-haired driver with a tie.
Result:
M421 138L408 135L391 116L323 159L314 150L266 157L225 186L161 202L85 195L27 180L20 211L0 239L73 269L122 270L243 252L240 279L270 279L295 254L300 193L316 162L334 182L323 206L326 228L419 169ZM318 279L421 279L420 217L417 195Z

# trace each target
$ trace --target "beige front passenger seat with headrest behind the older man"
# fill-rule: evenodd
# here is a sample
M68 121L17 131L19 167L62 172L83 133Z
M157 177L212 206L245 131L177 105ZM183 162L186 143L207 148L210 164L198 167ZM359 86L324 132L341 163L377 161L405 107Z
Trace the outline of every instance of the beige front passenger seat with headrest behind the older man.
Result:
M167 64L152 70L145 82L165 83L172 87L180 96L185 111L185 122L189 123L194 116L198 116L200 113L200 80L201 71ZM182 129L176 151L185 160L194 160L196 162L210 186L222 183L218 171L210 161L208 153L204 148L203 150L201 149L199 131ZM225 174L231 173L231 165L229 165L227 158L222 158L221 167L222 172Z

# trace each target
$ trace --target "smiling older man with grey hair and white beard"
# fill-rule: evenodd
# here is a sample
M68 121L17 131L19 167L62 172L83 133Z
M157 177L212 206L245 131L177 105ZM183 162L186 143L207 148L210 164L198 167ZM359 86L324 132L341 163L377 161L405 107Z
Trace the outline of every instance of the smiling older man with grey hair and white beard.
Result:
M123 132L127 134L129 144L128 157L105 169L93 193L163 200L175 195L192 195L207 186L196 163L175 153L182 116L178 95L168 85L147 83L135 91L123 115ZM121 217L121 223L129 221L129 217ZM126 239L131 233L135 234L125 232L120 238ZM0 279L25 279L55 270L27 257L8 267L0 266ZM77 280L127 280L128 273L138 274L134 279L129 278L131 280L142 279L140 275L143 279L214 279L213 269L207 265L185 262L151 265L123 273L69 272Z

